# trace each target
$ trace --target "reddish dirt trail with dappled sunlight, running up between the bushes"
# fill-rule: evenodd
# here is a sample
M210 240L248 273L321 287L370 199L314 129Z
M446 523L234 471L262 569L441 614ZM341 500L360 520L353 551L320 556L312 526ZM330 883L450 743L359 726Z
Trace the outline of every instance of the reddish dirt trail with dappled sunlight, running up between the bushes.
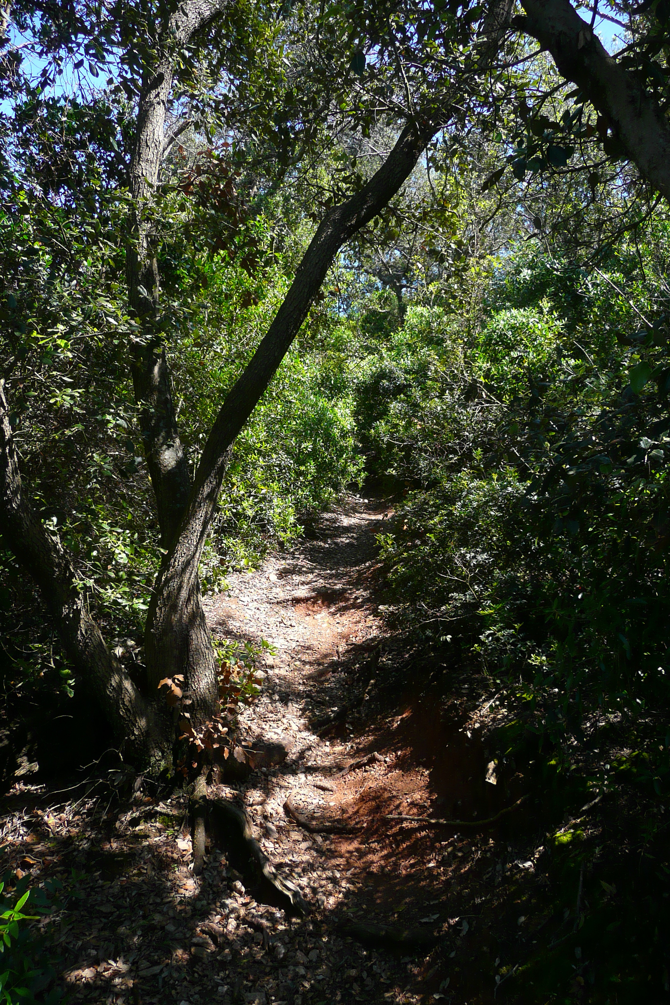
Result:
M242 727L249 748L275 743L286 758L235 788L264 851L301 886L313 914L284 938L283 976L291 987L271 978L268 984L260 973L251 979L268 1002L274 995L294 1005L474 1003L492 1001L496 990L492 946L482 946L495 942L490 929L482 926L472 941L475 919L502 882L491 860L493 841L486 833L417 830L388 819L394 813L488 817L521 791L514 779L495 785L478 733L495 718L495 696L482 703L481 687L471 692L462 668L452 674L447 700L424 688L425 673L412 670L404 687L379 693L402 662L402 639L389 634L379 610L376 536L392 516L388 500L350 496L288 556L230 577L229 591L208 604L215 634L265 638L277 650ZM230 787L219 794L229 797ZM287 814L288 797L311 824L355 824L358 833L305 831ZM516 927L503 914L497 918L503 928ZM430 952L390 953L379 932L368 948L343 939L343 925L356 923L392 926L415 943L423 937ZM300 948L305 937L309 953ZM473 956L480 959L466 977L459 963L465 957L473 963ZM490 977L482 980L482 968ZM488 985L483 995L482 984Z

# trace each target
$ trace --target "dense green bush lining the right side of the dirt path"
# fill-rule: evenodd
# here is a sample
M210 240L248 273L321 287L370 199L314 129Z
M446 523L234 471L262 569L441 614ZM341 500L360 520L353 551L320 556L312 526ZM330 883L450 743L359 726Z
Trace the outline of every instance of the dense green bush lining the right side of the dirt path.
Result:
M430 447L427 423L407 442L433 478L382 539L399 619L459 639L524 729L555 742L584 740L596 713L635 722L670 696L668 326L652 276L617 271L633 266L623 247L610 276L656 318L642 334L630 304L613 332L602 276L509 256L463 363L419 382L415 416L444 421ZM391 402L373 428L395 423L401 442L397 415ZM658 789L667 745L655 749Z

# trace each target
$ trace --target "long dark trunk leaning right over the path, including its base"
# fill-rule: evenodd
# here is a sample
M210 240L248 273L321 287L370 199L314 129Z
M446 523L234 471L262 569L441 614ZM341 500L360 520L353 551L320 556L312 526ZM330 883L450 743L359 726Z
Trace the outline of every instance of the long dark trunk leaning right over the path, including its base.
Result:
M338 251L386 206L410 175L437 126L408 125L384 165L355 196L322 220L267 334L223 403L196 470L188 507L158 576L147 619L151 683L184 673L194 699L192 723L216 708L214 653L205 624L198 563L236 436L246 423L307 316Z

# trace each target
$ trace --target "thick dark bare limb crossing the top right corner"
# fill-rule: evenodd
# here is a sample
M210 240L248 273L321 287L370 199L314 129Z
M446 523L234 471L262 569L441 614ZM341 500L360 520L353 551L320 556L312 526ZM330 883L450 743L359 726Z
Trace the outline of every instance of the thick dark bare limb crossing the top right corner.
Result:
M670 124L635 73L620 66L570 0L521 0L514 25L551 53L559 71L606 116L640 174L670 198Z

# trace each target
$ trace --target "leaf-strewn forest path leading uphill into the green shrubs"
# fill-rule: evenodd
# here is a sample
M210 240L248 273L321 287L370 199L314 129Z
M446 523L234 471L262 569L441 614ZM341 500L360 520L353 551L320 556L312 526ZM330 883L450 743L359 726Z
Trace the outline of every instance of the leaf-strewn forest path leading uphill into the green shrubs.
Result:
M392 514L386 499L349 496L316 519L290 553L229 577L229 590L208 598L215 635L265 638L276 648L240 725L247 751L269 743L285 752L280 764L259 754L248 777L212 786L210 795L244 801L264 852L299 885L311 911L284 924L251 897L256 918L269 926L272 955L256 955L246 970L231 966L221 993L233 1002L418 1003L432 1000L441 984L436 964L450 923L435 839L385 818L424 812L434 802L430 773L418 763L417 728L426 730L423 752L436 739L423 709L402 697L399 709L397 694L385 707L375 694L378 670L398 661L379 611L376 541ZM288 797L312 825L344 822L359 832L308 832L287 813ZM237 875L230 866L229 856L229 882ZM201 897L207 882L206 871L196 880ZM244 912L253 892L233 881L236 910ZM217 921L235 938L239 915L228 907ZM415 946L396 954L379 941L364 948L341 934L343 924L355 923L392 925L415 941L433 937L430 948L438 940L441 948L431 959Z

